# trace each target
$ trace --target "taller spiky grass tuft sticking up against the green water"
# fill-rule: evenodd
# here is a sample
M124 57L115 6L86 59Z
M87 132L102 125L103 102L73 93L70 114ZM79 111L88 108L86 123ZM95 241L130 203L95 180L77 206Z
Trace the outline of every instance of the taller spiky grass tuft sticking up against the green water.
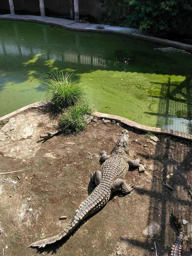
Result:
M56 72L46 84L46 97L52 101L54 109L58 112L82 101L86 95L85 87L82 83L74 81L73 74Z

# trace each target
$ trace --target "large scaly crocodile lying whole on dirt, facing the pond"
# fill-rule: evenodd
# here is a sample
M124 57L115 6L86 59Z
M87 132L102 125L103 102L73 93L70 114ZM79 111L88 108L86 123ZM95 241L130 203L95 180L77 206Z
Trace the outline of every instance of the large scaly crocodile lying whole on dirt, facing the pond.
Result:
M79 209L76 210L75 216L64 231L51 238L34 242L29 247L41 248L65 238L83 219L106 205L114 191L121 189L124 194L129 194L134 190L134 186L127 185L124 181L126 172L128 171L129 165L140 167L141 169L144 168L144 165L141 164L140 158L132 160L129 157L128 138L128 131L123 130L111 154L107 155L105 151L102 152L100 161L103 162L103 164L100 170L91 173L90 176L90 182L95 182L96 188L89 197L80 204Z

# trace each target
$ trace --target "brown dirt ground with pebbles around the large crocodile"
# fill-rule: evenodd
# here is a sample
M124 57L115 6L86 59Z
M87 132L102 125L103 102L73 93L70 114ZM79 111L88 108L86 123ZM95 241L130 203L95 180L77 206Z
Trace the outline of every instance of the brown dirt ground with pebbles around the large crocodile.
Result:
M154 242L158 256L169 255L178 233L171 218L174 207L178 218L189 222L182 256L192 255L191 142L157 135L160 141L153 145L146 133L101 120L76 137L42 141L40 135L56 129L56 121L41 109L22 112L0 128L0 173L22 170L0 175L0 255L115 256L120 251L122 256L152 256ZM90 172L100 167L99 153L110 153L123 128L129 131L131 158L147 165L144 173L132 167L126 175L136 189L126 196L116 192L62 242L28 248L65 228L94 189ZM68 219L59 220L62 215Z

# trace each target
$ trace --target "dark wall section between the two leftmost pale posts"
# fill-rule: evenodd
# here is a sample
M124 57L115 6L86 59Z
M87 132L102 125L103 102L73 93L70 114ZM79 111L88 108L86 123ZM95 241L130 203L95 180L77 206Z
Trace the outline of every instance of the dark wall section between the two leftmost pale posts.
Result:
M40 15L39 0L13 0L16 14Z

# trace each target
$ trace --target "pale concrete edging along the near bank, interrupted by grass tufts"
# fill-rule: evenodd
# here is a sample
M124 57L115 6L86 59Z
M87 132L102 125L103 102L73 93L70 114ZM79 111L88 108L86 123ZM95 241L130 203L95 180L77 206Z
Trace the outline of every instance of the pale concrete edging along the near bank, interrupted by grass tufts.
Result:
M44 101L39 101L39 102L35 102L32 103L30 105L27 105L25 107L21 107L20 109L17 109L5 116L0 117L0 121L3 121L5 119L9 119L10 117L23 112L24 110L30 109L30 108L37 108L40 106L44 106L46 105L47 102ZM158 128L158 127L151 127L151 126L145 126L143 124L139 124L136 123L134 121L131 121L127 118L121 117L121 116L115 116L115 115L109 115L109 114L105 114L105 113L100 113L100 112L93 112L93 115L99 118L106 118L109 120L115 120L117 122L121 122L123 124L126 124L127 126L133 127L137 130L141 130L144 132L152 132L152 133L159 133L159 134L166 134L166 135L172 135L172 136L176 136L182 139L186 139L186 140L191 140L192 141L192 134L187 134L187 133L183 133L183 132L178 132L175 130L170 130L170 129L163 129L163 128Z

